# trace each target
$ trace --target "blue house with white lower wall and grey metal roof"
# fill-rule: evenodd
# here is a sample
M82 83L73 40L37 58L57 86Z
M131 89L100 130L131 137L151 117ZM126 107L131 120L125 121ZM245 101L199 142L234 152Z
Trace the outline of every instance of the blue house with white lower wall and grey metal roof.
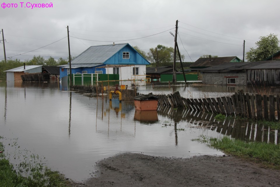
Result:
M112 44L91 46L71 61L72 74L119 74L120 80L146 76L150 63L131 45ZM60 68L60 79L67 80L69 64Z

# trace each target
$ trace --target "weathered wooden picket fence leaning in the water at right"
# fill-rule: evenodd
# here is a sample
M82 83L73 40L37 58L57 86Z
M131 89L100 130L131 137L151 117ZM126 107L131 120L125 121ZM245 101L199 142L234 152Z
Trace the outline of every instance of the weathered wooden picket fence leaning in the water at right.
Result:
M184 107L195 111L207 111L224 115L247 117L254 120L276 121L280 116L280 98L273 95L234 93L218 98L183 98L179 92L157 95L159 105Z

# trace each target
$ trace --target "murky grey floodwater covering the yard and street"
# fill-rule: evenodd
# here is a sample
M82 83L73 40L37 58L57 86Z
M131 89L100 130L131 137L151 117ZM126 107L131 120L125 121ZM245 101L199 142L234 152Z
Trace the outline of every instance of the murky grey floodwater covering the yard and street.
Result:
M180 91L181 96L192 98L232 94L210 86L139 87L138 91ZM21 148L46 157L49 167L78 181L93 175L95 162L121 152L166 157L223 155L192 141L200 135L279 143L278 131L253 123L216 122L211 114L166 107L139 112L133 102L90 98L62 89L57 82L8 87L1 82L0 112L0 136L18 138Z

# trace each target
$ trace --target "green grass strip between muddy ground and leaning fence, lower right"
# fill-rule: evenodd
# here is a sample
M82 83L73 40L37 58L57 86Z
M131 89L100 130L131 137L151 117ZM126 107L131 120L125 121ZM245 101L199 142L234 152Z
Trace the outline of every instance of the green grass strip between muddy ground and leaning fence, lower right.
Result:
M222 138L212 138L201 136L192 141L205 143L223 151L226 154L235 155L246 160L261 163L266 167L280 169L280 145L264 142L246 142L232 139L228 136Z

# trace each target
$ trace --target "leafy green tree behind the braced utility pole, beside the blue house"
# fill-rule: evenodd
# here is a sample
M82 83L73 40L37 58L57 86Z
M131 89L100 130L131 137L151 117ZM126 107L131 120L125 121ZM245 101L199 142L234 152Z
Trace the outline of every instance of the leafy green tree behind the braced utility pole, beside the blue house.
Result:
M157 49L156 49L157 48ZM157 45L156 48L150 48L148 52L148 60L151 63L157 65L157 59L160 66L170 65L174 62L174 48L163 45ZM184 55L181 55L181 60L185 59ZM176 51L176 62L180 61L178 51ZM173 65L173 64L172 64Z

